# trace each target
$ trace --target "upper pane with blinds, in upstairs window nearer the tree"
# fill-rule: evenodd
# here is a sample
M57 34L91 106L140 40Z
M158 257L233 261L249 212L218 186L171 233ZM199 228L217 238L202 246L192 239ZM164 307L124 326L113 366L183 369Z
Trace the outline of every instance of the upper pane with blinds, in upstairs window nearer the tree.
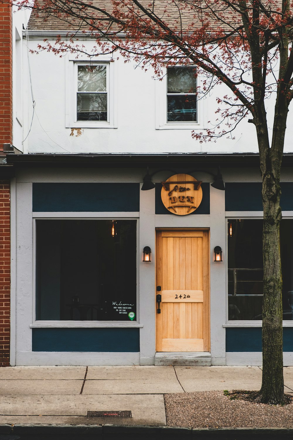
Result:
M195 67L169 67L167 93L196 93Z

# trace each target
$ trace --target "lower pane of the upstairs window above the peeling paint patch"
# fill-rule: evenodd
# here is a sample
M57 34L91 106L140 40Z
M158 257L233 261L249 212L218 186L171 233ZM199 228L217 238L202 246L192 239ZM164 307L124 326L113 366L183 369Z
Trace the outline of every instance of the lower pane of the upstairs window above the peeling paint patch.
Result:
M77 121L107 121L107 93L77 93Z

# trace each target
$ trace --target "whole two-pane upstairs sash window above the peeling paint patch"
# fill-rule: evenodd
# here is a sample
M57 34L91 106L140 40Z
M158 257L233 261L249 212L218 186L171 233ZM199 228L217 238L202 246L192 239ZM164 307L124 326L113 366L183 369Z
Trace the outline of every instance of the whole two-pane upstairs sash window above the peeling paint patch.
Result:
M108 121L107 65L76 67L76 121Z

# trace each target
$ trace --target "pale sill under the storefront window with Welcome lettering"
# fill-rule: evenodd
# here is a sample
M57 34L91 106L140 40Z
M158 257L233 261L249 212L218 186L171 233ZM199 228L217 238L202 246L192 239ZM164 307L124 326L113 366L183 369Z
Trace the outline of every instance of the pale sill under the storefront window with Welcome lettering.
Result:
M142 324L136 323L96 323L93 321L76 321L75 323L71 323L69 321L63 322L42 322L42 323L33 323L29 326L31 329L36 328L142 328Z

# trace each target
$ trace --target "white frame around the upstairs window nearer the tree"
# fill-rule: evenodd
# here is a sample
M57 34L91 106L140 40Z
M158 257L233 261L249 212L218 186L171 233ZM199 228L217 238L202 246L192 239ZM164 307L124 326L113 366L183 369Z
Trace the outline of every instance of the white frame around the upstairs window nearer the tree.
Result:
M184 66L182 66L184 69ZM197 121L196 122L172 122L167 121L167 68L164 69L163 79L155 81L156 87L156 130L203 130L206 129L206 102L197 99ZM201 77L197 77L197 84L200 84Z

